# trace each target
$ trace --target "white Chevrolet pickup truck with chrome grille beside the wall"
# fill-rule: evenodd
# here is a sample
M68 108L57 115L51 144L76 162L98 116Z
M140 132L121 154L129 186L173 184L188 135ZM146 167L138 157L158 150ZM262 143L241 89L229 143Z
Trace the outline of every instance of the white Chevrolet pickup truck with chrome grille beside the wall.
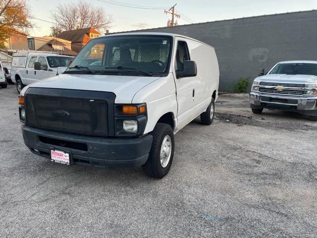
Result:
M251 109L296 111L317 121L317 61L282 61L260 72L250 93Z

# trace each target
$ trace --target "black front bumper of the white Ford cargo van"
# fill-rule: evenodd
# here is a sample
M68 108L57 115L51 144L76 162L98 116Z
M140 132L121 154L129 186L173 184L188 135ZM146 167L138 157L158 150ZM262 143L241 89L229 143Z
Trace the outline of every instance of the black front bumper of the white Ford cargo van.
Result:
M36 155L50 158L53 148L71 152L72 164L104 168L136 167L146 163L153 137L106 138L76 135L22 125L25 145Z

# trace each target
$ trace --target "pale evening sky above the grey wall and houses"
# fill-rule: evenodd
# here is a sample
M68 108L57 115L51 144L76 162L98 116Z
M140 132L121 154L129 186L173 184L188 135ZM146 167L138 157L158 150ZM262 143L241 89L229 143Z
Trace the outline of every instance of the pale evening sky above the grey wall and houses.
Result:
M110 32L120 32L147 28L164 27L171 15L164 14L163 9L139 9L123 7L102 2L87 0L94 6L102 6L113 19ZM214 20L232 19L264 14L274 14L292 11L317 9L317 0L116 0L128 4L165 7L177 3L175 9L184 18L178 19L178 24L189 24L188 18L195 23ZM27 0L33 17L53 21L51 11L59 2L76 3L78 0ZM187 18L186 18L187 17ZM186 20L186 19L187 20ZM190 20L189 20L190 21ZM53 24L41 20L32 20L36 24L29 31L30 36L42 37L50 34ZM103 32L101 32L103 33Z

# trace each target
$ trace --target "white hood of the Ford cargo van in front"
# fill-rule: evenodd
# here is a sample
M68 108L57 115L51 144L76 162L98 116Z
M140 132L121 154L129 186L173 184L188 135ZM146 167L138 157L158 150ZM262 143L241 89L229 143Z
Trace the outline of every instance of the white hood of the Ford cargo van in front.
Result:
M31 83L23 88L20 95L33 88L59 88L88 91L113 92L115 103L132 103L134 95L143 87L156 81L159 77L122 76L122 75L86 75L60 74Z

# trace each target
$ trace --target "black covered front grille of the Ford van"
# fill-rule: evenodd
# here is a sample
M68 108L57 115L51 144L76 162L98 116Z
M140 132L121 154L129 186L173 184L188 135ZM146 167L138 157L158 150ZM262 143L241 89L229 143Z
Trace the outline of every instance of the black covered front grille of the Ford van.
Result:
M107 136L107 102L101 99L26 95L30 126L81 135Z

